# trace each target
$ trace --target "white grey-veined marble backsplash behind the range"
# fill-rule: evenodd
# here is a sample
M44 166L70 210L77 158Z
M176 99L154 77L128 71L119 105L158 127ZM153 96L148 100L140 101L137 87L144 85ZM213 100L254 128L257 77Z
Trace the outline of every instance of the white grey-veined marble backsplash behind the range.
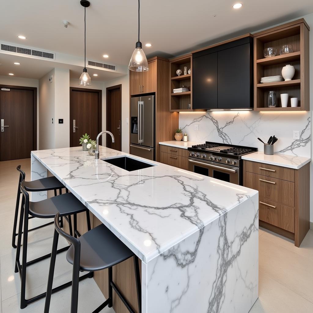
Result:
M213 141L257 147L263 151L261 138L267 142L275 135L274 151L288 155L311 157L311 112L207 111L180 112L179 127L189 141ZM198 125L198 131L194 130ZM293 131L300 138L293 139Z

